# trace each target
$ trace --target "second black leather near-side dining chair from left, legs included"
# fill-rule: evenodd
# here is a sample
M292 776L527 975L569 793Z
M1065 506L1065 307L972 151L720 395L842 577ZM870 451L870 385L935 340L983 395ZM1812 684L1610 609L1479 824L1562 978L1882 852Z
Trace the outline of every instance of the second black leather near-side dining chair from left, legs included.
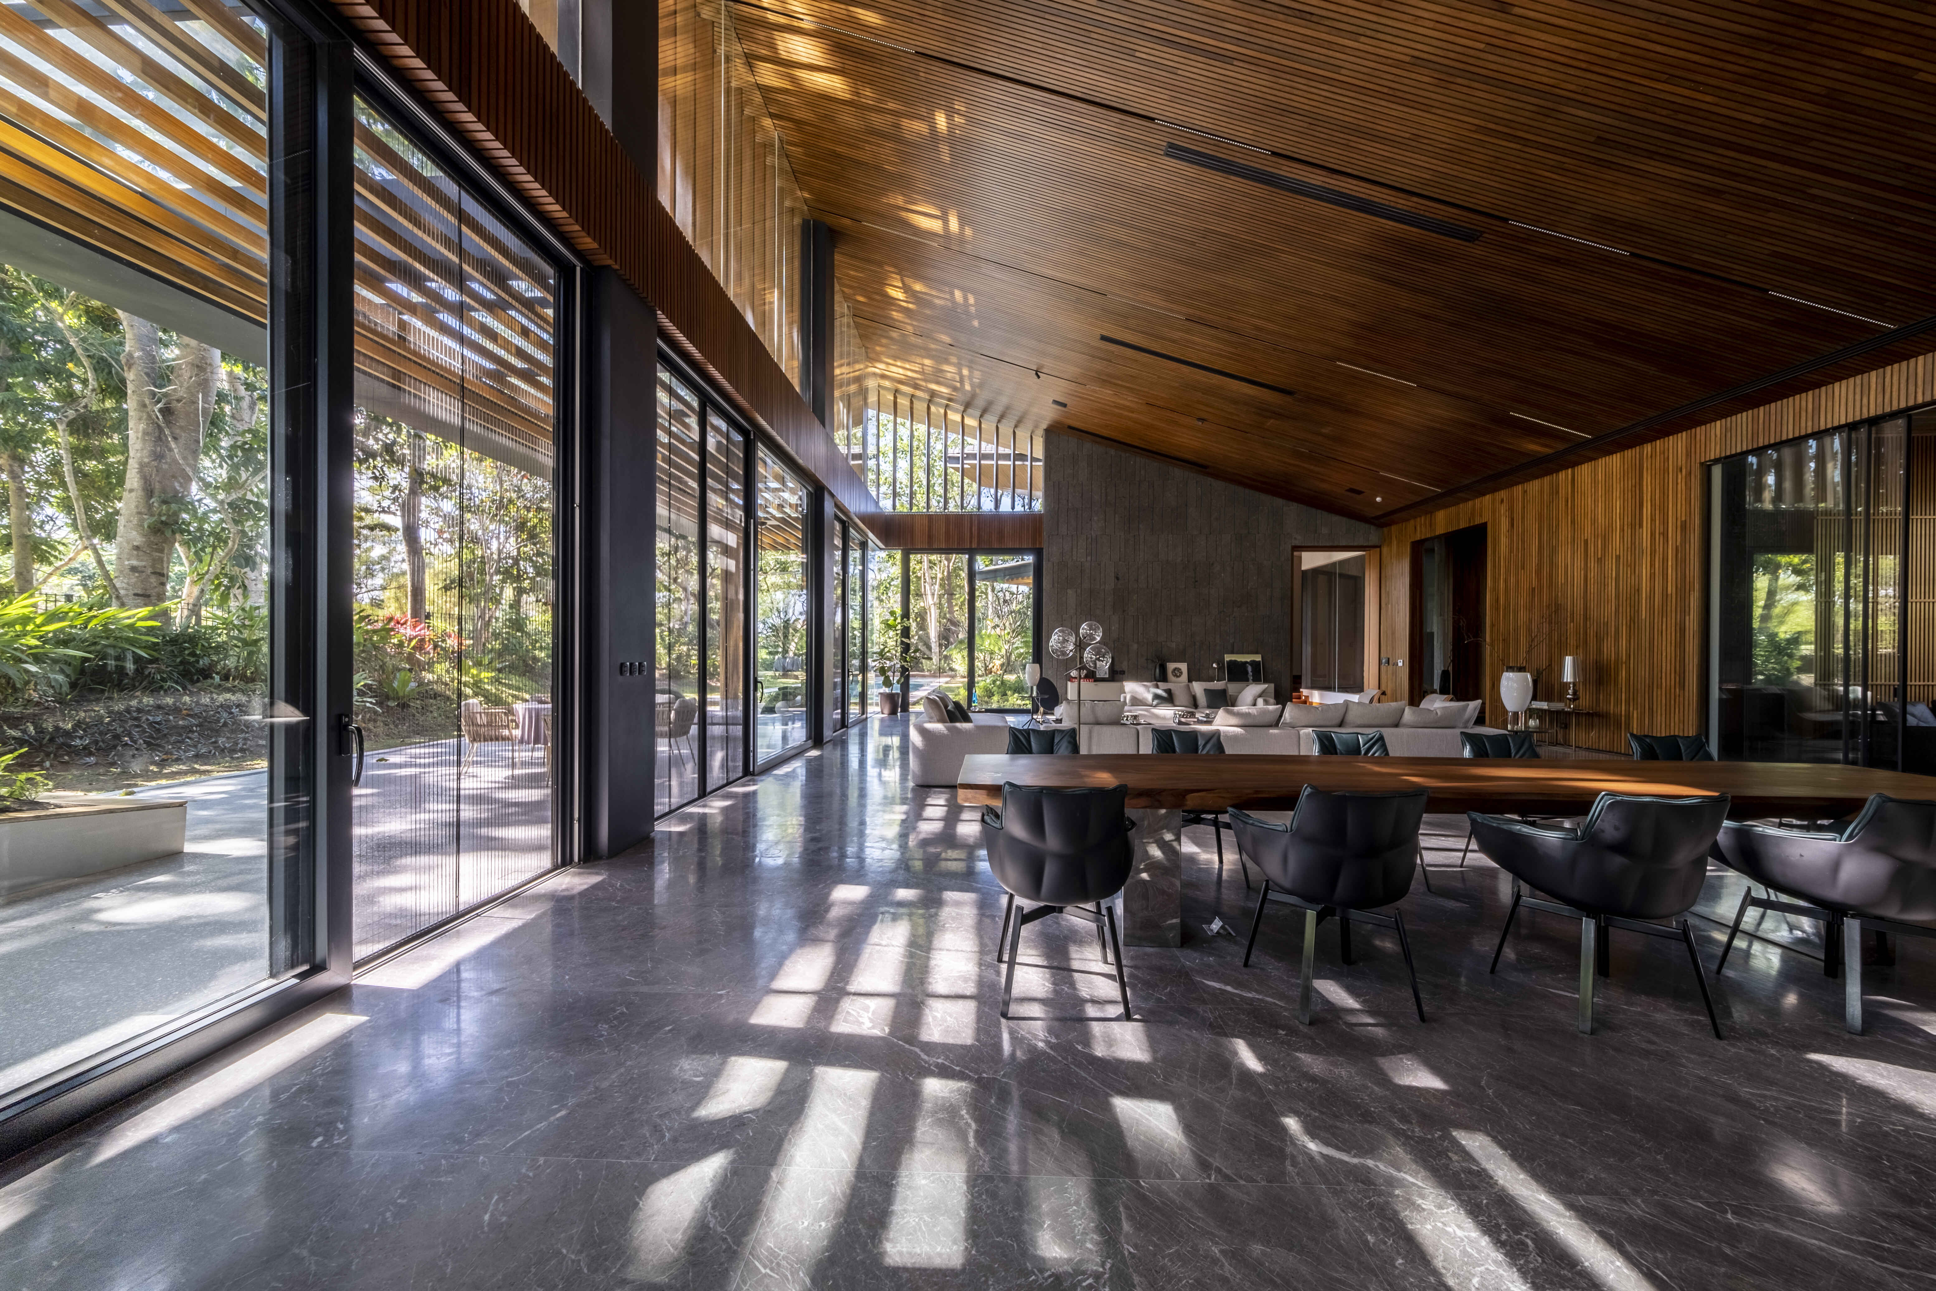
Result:
M1311 987L1316 976L1318 923L1338 919L1338 952L1351 964L1351 923L1371 923L1398 931L1398 948L1411 977L1411 1006L1425 1020L1419 976L1411 966L1406 916L1371 914L1396 904L1411 890L1411 857L1419 850L1425 821L1425 790L1396 794L1332 794L1305 786L1289 825L1260 821L1241 807L1229 809L1239 856L1249 856L1264 875L1251 916L1251 941L1243 964L1251 966L1256 933L1264 925L1264 906L1272 900L1305 912L1305 966L1297 985L1297 1020L1311 1022Z

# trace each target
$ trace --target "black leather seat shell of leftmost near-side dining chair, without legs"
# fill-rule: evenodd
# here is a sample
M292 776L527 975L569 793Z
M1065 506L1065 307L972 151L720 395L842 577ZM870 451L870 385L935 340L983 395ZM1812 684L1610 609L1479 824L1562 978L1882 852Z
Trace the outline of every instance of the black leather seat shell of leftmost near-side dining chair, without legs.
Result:
M1001 786L1001 815L982 811L987 865L1022 900L1080 906L1115 896L1136 863L1123 811L1129 786Z

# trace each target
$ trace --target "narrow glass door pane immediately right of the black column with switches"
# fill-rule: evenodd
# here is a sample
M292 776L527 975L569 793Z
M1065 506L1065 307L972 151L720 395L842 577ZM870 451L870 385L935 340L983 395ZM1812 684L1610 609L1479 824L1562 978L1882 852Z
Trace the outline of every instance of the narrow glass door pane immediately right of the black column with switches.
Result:
M699 797L699 399L658 374L658 563L654 807L664 815Z

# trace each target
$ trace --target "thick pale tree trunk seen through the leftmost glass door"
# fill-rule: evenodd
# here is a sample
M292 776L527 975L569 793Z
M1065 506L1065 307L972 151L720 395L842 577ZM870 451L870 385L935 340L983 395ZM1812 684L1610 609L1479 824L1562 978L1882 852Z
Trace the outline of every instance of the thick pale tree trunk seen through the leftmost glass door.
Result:
M161 329L122 314L128 379L128 476L114 530L114 573L122 604L168 600L176 507L188 501L201 465L201 434L215 410L223 362L215 346L180 337L174 360L161 356Z

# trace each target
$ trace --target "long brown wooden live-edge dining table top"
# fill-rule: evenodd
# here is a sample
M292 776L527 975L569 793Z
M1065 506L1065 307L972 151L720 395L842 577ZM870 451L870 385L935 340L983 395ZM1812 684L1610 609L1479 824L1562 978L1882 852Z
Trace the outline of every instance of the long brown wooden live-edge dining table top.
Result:
M1200 753L970 753L956 799L1001 805L1003 782L1032 788L1129 786L1142 809L1286 811L1307 784L1342 792L1431 792L1431 811L1586 811L1611 794L1729 794L1729 815L1831 819L1870 794L1936 799L1936 776L1814 763L1630 763L1464 757L1309 757Z

